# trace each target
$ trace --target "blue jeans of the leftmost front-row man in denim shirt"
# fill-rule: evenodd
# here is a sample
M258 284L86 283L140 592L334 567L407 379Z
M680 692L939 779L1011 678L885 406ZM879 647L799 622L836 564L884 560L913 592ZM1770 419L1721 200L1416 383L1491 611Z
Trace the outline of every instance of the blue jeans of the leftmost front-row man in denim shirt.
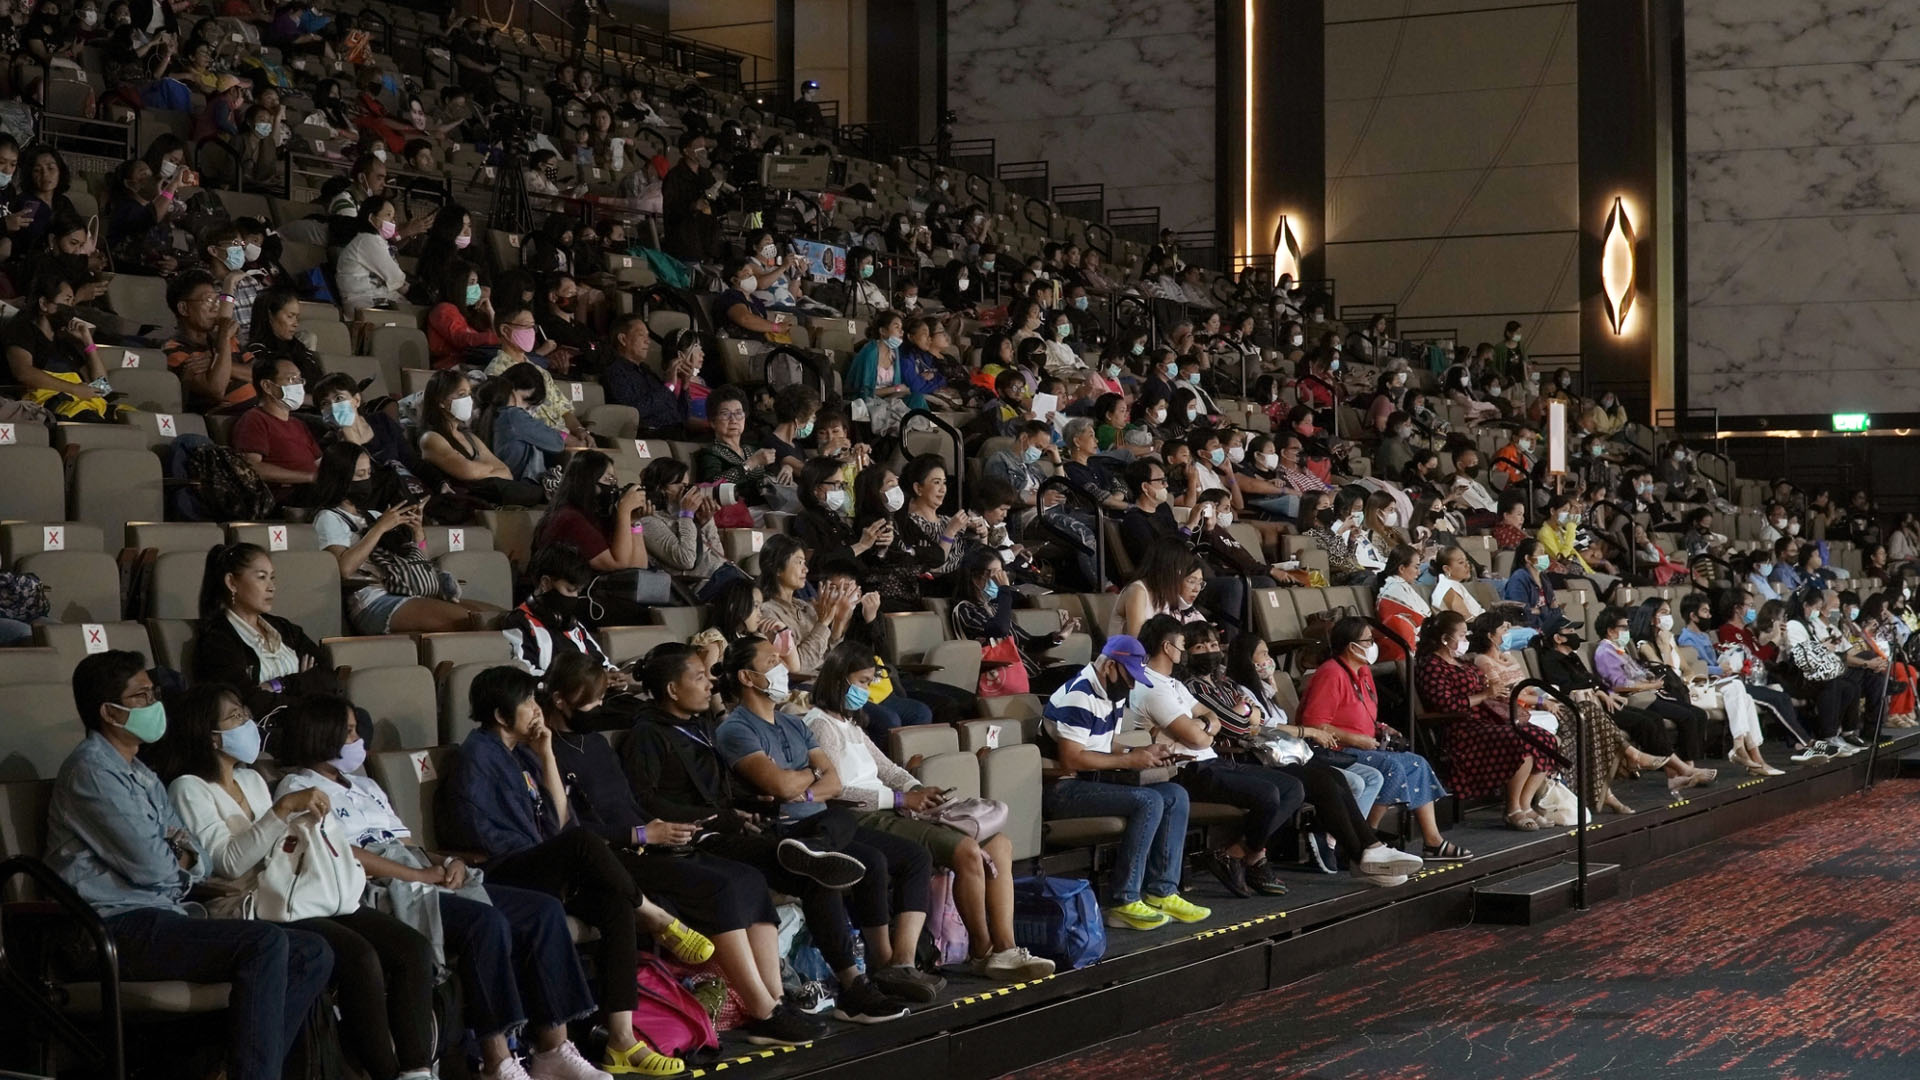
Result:
M286 1053L334 972L319 934L242 919L192 919L150 907L113 915L108 932L131 982L230 982L228 1080L280 1080Z

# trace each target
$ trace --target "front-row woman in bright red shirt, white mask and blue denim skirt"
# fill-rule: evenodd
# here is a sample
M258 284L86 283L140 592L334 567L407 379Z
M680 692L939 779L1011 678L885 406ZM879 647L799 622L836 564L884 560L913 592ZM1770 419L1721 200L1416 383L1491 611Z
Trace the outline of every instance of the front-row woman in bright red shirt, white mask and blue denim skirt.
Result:
M1471 859L1473 851L1440 834L1432 805L1446 796L1446 788L1432 765L1419 753L1390 749L1404 744L1405 736L1380 721L1380 694L1373 682L1379 655L1373 628L1357 615L1340 619L1329 632L1329 650L1327 663L1313 671L1300 696L1298 723L1331 730L1342 749L1384 776L1380 798L1367 813L1369 824L1379 826L1388 805L1407 805L1421 828L1421 853L1427 859Z

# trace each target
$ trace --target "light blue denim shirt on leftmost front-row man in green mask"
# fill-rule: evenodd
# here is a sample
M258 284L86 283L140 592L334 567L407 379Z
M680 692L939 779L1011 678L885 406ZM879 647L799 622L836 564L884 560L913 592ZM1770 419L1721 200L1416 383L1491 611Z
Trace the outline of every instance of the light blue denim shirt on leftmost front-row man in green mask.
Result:
M180 867L177 847L194 853L190 869ZM88 732L54 778L46 863L100 915L186 911L186 890L207 876L207 859L167 786L100 732Z

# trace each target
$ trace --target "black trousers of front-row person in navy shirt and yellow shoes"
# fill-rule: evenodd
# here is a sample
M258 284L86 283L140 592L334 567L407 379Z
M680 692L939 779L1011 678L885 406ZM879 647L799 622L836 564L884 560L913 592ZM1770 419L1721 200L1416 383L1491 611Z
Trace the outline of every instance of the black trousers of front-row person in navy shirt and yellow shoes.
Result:
M632 1013L639 1003L639 930L634 924L639 886L605 840L584 828L566 832L486 865L488 884L518 886L557 897L566 913L599 930L593 955L593 997L607 1013Z

